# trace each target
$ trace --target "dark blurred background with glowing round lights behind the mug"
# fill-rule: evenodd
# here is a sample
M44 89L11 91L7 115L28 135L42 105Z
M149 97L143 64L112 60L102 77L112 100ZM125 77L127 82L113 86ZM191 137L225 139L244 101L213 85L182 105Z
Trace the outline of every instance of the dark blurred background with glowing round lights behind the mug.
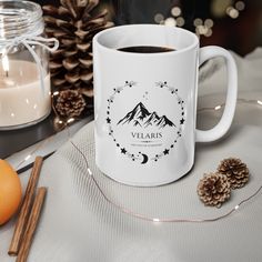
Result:
M59 0L36 0L59 4ZM262 0L100 0L115 24L164 23L241 56L262 46Z

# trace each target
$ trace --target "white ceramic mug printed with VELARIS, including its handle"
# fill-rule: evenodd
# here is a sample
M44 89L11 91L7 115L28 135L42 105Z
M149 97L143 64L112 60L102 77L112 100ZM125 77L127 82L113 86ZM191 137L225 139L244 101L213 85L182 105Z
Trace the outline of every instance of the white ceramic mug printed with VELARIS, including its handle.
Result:
M134 46L170 52L119 51ZM228 64L224 113L213 129L195 129L199 66L223 57ZM104 30L93 39L95 163L108 177L131 185L170 183L194 163L195 142L220 139L234 115L238 75L232 56L199 48L184 29L133 24Z

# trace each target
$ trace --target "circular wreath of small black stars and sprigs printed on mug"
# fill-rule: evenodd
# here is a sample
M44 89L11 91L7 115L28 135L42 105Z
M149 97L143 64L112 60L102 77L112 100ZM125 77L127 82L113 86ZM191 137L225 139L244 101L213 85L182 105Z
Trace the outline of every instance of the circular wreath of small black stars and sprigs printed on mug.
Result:
M142 161L142 163L145 163L143 161L144 161L144 155L147 155L147 154L143 154L142 152L139 152L138 154L131 153L124 147L122 147L119 143L119 141L114 137L114 131L113 131L113 128L112 128L112 120L111 120L111 112L110 112L111 105L114 102L115 95L121 93L125 88L133 88L135 85L137 85L137 82L134 82L134 81L125 81L122 87L113 89L113 93L108 99L108 109L107 109L105 122L109 127L109 133L108 134L110 137L112 137L117 148L119 148L119 150L120 150L120 153L122 153L125 157L130 158L132 161L140 160L140 161ZM150 158L150 160L154 161L154 162L157 162L162 157L168 155L170 153L170 151L174 148L174 144L178 142L179 138L182 137L182 125L185 122L185 119L184 119L184 101L179 97L179 94L178 94L179 90L174 89L173 87L168 85L167 81L159 81L159 82L155 83L155 87L161 88L161 89L165 88L165 89L168 89L168 91L172 95L175 95L178 104L180 105L180 109L181 109L181 114L180 114L180 120L179 120L179 128L178 128L178 131L177 131L175 137L173 139L173 142L170 144L170 147L165 148L164 150L162 150L161 152L155 154L153 158Z

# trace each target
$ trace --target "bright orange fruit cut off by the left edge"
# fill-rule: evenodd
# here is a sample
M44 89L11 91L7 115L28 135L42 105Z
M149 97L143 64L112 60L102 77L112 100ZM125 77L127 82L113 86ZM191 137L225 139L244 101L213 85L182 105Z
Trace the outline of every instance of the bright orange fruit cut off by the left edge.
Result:
M22 188L18 173L0 159L0 225L18 210L22 199Z

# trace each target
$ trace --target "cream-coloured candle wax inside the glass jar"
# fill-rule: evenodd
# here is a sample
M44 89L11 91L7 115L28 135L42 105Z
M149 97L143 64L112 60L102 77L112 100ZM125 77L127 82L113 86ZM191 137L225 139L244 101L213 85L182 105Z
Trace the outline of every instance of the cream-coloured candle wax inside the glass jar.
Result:
M30 124L51 111L50 74L44 75L41 89L37 64L9 60L0 63L0 129Z

